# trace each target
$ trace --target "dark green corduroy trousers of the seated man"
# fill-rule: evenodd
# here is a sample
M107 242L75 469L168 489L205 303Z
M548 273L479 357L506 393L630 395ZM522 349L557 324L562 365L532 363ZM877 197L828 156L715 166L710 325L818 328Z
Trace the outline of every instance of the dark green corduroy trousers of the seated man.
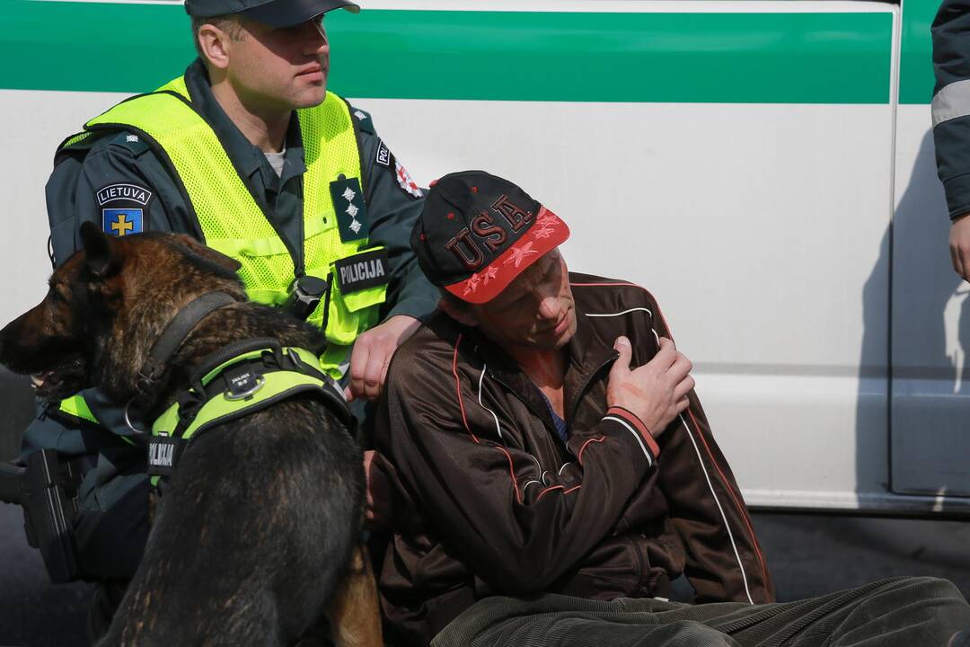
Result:
M822 598L773 604L485 598L433 647L946 647L970 627L947 580L901 577Z

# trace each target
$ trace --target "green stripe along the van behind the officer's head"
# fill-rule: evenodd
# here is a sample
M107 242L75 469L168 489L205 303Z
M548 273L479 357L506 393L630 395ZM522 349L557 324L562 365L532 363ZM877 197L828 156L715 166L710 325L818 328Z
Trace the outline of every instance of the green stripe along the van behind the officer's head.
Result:
M138 92L193 56L178 4L4 0L0 87ZM365 11L327 16L351 97L885 104L891 16Z

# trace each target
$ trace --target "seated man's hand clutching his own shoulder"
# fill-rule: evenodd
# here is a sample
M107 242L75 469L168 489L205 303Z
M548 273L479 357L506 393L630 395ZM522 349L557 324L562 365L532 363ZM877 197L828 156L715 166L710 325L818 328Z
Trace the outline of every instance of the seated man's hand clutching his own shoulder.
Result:
M613 347L620 357L609 372L606 404L624 407L646 425L651 436L659 437L688 406L687 394L694 388L691 360L663 337L657 355L630 371L630 340L619 337Z

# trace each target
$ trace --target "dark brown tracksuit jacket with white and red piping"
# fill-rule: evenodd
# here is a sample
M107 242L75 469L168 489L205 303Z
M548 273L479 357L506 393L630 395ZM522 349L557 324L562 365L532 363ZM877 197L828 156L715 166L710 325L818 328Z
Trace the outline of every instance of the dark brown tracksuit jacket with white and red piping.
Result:
M769 602L751 520L694 392L645 440L607 410L607 376L670 337L644 289L569 275L578 327L566 371L568 442L531 380L443 312L398 349L375 438L395 495L380 576L391 639L428 644L489 595L663 596L686 573L697 602Z

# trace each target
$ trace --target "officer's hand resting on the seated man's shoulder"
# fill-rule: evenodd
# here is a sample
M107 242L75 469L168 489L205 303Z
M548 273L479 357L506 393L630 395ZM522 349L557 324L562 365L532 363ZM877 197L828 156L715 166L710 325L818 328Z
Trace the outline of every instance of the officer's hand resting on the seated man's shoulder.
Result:
M399 314L354 340L350 353L350 386L344 392L348 401L380 397L391 356L420 325L414 317Z

